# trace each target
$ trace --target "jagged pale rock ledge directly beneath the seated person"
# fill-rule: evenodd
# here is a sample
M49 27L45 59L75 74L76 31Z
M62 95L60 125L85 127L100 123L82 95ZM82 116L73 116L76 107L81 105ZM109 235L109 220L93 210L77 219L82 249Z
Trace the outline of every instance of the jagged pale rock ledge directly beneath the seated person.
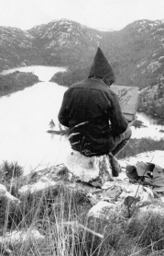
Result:
M106 159L103 158L103 160L105 163ZM82 161L81 158L81 168L82 163L86 167L89 163L88 161L89 158L86 161ZM25 196L30 193L44 192L49 188L54 189L59 185L64 185L69 190L85 193L91 204L93 204L88 215L100 218L111 215L111 212L115 210L120 212L120 215L124 215L125 218L130 218L138 209L138 213L142 211L140 210L141 208L145 211L144 207L154 204L154 201L157 202L159 200L163 204L162 197L159 197L157 192L154 192L148 186L143 186L141 183L130 183L123 173L121 179L119 177L111 179L111 176L109 176L109 180L106 179L103 182L102 169L99 169L99 172L98 169L96 171L93 170L92 173L92 168L90 168L85 169L86 171L84 172L82 169L76 169L77 165L78 162L74 159L70 166L71 171L68 169L69 165L67 167L60 165L38 171L37 181L23 186L19 190L20 195ZM108 214L106 214L106 209L108 209Z

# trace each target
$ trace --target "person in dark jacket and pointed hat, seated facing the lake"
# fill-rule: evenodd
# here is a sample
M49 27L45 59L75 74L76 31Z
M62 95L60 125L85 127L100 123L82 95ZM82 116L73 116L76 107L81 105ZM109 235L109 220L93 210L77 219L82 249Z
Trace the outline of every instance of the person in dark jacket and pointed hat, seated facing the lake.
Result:
M131 129L110 86L112 66L98 48L89 76L65 92L59 121L69 127L71 148L86 157L108 155L113 176L121 171L115 155L127 144Z

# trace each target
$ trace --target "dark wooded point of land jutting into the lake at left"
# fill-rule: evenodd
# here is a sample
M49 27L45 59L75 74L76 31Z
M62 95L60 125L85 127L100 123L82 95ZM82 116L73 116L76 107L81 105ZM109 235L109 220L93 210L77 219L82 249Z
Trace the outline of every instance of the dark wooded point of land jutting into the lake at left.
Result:
M0 96L31 87L38 83L38 76L33 73L25 73L16 71L7 75L0 75Z

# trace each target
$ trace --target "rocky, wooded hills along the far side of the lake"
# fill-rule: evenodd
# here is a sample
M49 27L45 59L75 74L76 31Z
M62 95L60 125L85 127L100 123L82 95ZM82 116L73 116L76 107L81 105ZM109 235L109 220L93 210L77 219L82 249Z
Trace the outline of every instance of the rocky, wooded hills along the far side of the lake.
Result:
M52 80L69 86L88 76L100 46L114 67L116 84L164 87L164 20L137 20L106 32L67 19L27 31L0 27L0 46L0 71L30 64L67 66L67 73Z

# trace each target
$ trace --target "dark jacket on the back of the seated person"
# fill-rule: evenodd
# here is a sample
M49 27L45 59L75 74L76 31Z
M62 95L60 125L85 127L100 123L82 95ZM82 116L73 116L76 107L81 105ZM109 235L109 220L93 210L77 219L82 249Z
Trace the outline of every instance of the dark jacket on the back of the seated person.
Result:
M101 79L90 78L65 92L60 123L70 128L71 147L83 155L104 155L115 147L113 137L126 130L115 93Z

